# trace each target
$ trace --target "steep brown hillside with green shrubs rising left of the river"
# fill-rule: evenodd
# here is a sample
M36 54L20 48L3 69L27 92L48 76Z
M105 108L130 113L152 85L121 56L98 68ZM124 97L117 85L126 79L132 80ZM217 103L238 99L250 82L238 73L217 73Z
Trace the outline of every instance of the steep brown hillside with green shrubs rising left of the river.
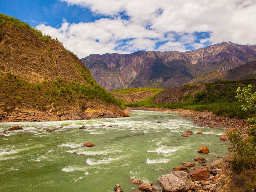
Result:
M125 115L62 43L0 14L0 121Z

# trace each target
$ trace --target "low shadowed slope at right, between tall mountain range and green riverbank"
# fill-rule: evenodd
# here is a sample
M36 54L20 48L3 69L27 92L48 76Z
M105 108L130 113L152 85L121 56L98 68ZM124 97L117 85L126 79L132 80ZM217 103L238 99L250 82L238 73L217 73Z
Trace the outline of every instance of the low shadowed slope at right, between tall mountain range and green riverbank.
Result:
M256 61L249 62L234 69L215 71L204 76L197 77L191 81L189 84L199 84L203 82L213 83L214 81L221 80L245 80L256 78Z

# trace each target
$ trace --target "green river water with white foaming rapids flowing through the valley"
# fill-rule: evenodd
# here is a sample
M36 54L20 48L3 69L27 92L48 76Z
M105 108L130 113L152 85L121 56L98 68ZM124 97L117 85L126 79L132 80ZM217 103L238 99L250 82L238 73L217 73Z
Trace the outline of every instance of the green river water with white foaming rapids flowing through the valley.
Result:
M130 117L115 119L0 123L0 131L14 125L24 130L0 133L0 191L5 192L113 192L117 183L124 192L135 192L138 185L131 178L160 190L157 178L181 162L227 154L228 143L219 140L223 130L199 127L177 113L134 110ZM82 125L86 129L78 128ZM52 126L64 128L35 129ZM186 130L204 134L181 137ZM86 142L96 146L81 147ZM203 145L209 154L196 152Z

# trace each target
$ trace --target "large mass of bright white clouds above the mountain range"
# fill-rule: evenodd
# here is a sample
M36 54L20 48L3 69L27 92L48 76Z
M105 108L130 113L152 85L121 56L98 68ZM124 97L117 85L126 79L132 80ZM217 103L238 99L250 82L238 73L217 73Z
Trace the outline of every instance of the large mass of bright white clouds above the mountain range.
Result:
M80 58L106 52L156 50L157 42L166 42L158 46L161 51L197 49L207 42L256 43L256 0L61 1L111 17L78 24L63 19L60 28L37 26L43 33L57 37ZM129 20L121 19L121 12ZM207 31L211 36L198 40L196 31Z

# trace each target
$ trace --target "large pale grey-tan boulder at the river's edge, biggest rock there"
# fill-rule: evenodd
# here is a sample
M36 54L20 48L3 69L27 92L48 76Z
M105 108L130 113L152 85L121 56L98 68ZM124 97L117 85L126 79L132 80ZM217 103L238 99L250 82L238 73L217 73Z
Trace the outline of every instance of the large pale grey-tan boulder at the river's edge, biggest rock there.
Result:
M158 183L165 192L187 192L192 187L189 174L183 171L162 175L158 178Z

